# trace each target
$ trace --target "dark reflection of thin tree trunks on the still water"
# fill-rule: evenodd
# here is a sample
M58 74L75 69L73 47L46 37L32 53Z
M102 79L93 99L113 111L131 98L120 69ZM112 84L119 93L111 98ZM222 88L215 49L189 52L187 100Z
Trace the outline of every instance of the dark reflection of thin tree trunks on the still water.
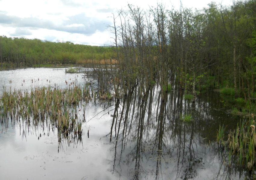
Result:
M221 112L214 110L214 97L192 103L183 99L182 91L161 95L153 86L145 101L138 94L134 88L114 109L113 173L128 179L241 177L237 168L227 168L224 155L216 150L216 119ZM193 120L184 122L185 114Z

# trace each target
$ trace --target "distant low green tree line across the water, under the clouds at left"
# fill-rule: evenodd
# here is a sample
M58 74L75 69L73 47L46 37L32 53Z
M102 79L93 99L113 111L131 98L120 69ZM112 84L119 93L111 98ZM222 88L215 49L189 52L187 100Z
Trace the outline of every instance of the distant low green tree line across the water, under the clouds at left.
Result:
M50 42L39 39L0 36L0 62L11 67L34 64L76 64L110 59L109 46L89 46L72 42Z

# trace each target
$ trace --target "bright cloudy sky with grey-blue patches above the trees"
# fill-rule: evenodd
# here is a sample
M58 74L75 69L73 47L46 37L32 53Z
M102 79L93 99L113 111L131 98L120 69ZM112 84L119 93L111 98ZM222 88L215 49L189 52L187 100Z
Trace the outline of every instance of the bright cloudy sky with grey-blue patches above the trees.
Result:
M196 1L196 3L195 3ZM207 7L211 0L182 0L188 8ZM217 4L221 0L215 0ZM178 0L162 0L167 9L179 8ZM109 45L113 41L107 28L112 13L127 4L144 10L156 6L156 0L0 0L0 35L37 38L47 41L71 41L76 44ZM222 0L222 4L232 4Z

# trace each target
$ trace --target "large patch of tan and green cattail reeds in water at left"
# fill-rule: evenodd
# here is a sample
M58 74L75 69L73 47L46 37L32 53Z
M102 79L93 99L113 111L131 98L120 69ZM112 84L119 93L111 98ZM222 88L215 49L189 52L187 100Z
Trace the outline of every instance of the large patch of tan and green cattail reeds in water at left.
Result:
M58 132L81 134L82 120L78 118L78 111L82 109L82 103L92 100L92 90L89 85L76 84L66 88L44 86L31 90L4 89L0 97L0 121L7 124L11 119L11 122L24 122L27 125L46 121L56 126Z

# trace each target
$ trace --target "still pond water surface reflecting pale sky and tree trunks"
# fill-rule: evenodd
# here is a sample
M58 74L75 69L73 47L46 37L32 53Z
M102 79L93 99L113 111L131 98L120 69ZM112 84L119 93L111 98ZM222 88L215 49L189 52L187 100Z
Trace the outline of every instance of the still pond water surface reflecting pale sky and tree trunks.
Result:
M83 77L66 74L64 68L0 71L0 82L12 91L88 83L90 78ZM173 90L162 101L155 85L145 101L135 87L120 101L80 102L76 118L84 119L81 136L64 136L45 120L28 125L1 119L1 179L252 178L246 170L228 166L216 143L219 126L227 126L227 134L240 118L227 113L215 91L198 95L195 103L183 95ZM184 121L186 115L191 121Z

